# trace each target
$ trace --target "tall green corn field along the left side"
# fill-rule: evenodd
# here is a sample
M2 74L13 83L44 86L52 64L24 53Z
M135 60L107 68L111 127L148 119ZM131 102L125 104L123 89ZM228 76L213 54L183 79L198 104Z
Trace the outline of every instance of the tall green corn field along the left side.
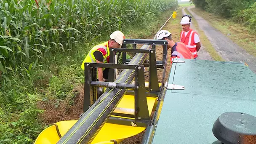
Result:
M0 0L0 71L29 71L49 54L173 6L176 0Z

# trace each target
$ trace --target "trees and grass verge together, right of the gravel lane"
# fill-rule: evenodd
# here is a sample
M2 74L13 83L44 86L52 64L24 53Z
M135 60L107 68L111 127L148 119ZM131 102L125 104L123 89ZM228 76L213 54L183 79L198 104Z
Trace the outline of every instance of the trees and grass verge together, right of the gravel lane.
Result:
M231 40L256 56L255 0L191 0L192 8Z

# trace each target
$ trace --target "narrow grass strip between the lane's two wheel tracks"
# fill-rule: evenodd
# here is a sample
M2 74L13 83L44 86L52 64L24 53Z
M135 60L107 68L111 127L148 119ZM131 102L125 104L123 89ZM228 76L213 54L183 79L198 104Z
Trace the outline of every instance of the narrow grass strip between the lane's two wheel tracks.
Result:
M191 13L189 13L189 11L187 11L187 8L185 8L184 10L185 10L186 13L193 16ZM208 40L205 33L202 30L200 30L200 28L197 24L197 21L194 21L193 25L195 26L195 28L197 29L198 34L200 35L201 44L204 46L205 50L210 54L210 56L213 58L213 60L215 60L215 61L225 61L219 55L219 53L216 52L215 48L213 48L213 46L211 45L211 42Z

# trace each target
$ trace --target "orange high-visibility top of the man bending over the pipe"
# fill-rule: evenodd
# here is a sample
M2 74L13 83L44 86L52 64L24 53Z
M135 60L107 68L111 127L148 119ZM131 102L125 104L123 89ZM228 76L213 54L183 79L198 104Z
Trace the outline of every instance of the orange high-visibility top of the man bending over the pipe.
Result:
M176 43L171 49L171 63L174 58L194 59L187 46L181 42Z

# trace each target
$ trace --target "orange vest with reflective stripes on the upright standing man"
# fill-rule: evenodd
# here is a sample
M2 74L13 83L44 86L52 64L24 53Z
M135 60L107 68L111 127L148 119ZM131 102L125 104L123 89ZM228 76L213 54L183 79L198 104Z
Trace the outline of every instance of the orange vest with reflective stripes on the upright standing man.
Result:
M194 58L197 57L197 44L194 41L195 34L197 34L197 32L195 32L193 29L190 29L186 37L185 32L183 30L181 31L180 35L180 41L187 45L187 48L189 48Z

